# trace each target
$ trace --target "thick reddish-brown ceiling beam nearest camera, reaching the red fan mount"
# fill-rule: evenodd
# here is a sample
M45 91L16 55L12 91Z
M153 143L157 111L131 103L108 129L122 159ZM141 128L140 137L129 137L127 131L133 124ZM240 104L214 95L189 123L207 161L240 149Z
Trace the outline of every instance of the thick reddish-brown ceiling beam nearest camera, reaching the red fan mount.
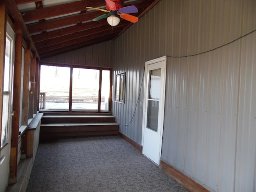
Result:
M25 11L23 14L24 22L32 22L45 18L51 18L64 14L70 14L82 10L87 10L86 6L91 6L91 0L74 1L66 4L60 4L56 6L44 7L39 10ZM94 0L93 5L96 7L105 6L105 2L102 0Z

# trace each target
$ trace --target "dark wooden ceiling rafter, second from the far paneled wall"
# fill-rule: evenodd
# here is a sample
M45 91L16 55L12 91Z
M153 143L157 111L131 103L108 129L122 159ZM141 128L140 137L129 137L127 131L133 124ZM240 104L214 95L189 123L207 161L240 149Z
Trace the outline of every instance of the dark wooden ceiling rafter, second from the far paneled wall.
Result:
M122 28L116 30L116 33L120 32L121 30L122 30ZM70 46L72 44L77 44L77 43L80 43L80 42L86 42L88 40L93 40L93 39L102 38L102 37L106 37L106 36L112 36L112 34L114 34L114 33L111 33L111 31L104 31L104 32L96 33L96 34L93 34L93 35L90 35L90 36L84 36L84 37L68 40L68 41L61 42L61 43L54 44L54 45L50 45L50 46L47 46L47 47L38 48L38 53L42 54L43 52L49 52L49 51L52 51L54 49Z

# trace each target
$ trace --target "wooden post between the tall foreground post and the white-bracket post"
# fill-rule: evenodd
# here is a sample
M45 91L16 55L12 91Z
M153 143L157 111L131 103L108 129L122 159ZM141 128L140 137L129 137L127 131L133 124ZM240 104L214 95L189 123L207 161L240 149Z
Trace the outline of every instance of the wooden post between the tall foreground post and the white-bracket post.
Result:
M30 43L28 43L29 45ZM28 125L28 99L29 99L29 90L28 83L30 77L30 48L25 50L24 58L24 79L23 79L23 104L22 104L22 125Z

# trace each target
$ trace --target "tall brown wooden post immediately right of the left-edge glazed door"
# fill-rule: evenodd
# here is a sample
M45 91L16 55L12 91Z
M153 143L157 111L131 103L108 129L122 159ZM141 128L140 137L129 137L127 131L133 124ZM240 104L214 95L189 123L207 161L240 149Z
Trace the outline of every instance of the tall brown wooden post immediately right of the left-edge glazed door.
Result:
M19 23L15 25L15 62L13 82L13 111L12 141L10 158L10 183L16 183L18 161L18 139L20 128L20 92L21 92L21 62L22 62L22 28Z

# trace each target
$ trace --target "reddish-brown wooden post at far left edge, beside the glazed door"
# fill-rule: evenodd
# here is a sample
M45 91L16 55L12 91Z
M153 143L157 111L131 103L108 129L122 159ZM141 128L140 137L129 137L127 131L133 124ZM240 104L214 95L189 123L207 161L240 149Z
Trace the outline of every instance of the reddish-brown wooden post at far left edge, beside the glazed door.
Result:
M2 109L3 109L3 96L4 96L4 59L5 59L5 34L6 34L6 2L0 1L0 136L2 131ZM1 153L1 150L0 150ZM1 157L1 156L0 156Z

